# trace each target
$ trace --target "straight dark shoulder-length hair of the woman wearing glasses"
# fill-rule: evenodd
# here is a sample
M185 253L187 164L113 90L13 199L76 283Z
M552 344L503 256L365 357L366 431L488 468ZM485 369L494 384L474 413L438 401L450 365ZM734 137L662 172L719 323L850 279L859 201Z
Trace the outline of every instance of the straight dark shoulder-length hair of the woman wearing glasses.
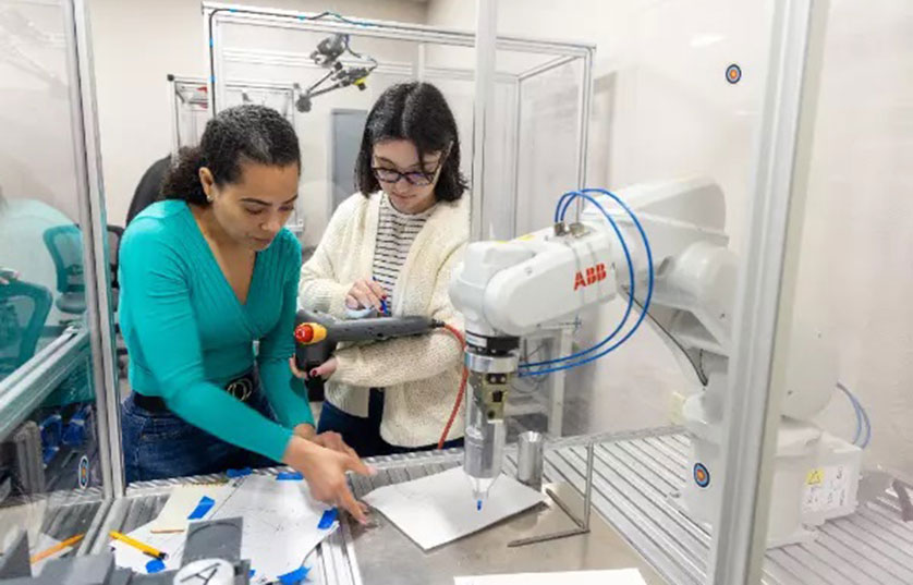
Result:
M427 153L446 155L435 198L454 202L463 196L466 180L460 174L460 135L440 89L429 83L401 83L387 88L377 99L368 113L355 161L355 185L365 196L380 188L372 171L372 156L374 145L387 139L412 141L419 161L425 160Z

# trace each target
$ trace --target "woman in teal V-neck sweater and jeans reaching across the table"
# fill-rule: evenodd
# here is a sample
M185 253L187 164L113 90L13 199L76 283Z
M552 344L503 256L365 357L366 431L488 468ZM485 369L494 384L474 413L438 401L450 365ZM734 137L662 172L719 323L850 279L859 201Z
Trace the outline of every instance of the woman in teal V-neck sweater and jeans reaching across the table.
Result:
M120 319L133 388L124 463L129 480L147 480L278 461L316 498L364 520L345 472L368 468L338 435L316 435L289 367L301 246L282 226L300 160L277 111L224 110L182 153L166 200L124 233Z

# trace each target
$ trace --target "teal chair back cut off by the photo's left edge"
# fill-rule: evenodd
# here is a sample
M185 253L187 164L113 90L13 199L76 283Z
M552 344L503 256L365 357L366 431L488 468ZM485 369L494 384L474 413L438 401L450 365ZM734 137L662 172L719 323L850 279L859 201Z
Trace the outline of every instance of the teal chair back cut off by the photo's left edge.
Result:
M28 362L51 310L51 292L14 280L0 284L0 377Z

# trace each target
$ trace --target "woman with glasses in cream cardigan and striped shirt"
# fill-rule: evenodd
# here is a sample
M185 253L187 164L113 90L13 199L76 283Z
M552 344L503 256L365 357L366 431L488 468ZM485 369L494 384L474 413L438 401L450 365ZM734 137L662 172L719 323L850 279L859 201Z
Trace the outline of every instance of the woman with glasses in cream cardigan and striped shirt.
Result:
M387 89L368 114L355 166L358 193L332 216L301 271L300 304L351 318L374 307L461 325L450 272L468 240L456 122L427 83ZM462 349L447 332L351 345L300 377L326 380L318 431L362 456L435 447L460 386ZM446 447L462 443L462 414Z

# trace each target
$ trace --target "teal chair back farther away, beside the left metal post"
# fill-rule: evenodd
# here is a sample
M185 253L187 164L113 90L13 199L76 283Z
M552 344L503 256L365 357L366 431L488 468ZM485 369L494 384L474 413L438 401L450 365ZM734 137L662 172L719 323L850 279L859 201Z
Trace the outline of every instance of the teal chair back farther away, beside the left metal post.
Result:
M86 310L86 285L83 276L83 232L74 224L45 230L45 246L57 268L54 305L62 313L82 315Z

